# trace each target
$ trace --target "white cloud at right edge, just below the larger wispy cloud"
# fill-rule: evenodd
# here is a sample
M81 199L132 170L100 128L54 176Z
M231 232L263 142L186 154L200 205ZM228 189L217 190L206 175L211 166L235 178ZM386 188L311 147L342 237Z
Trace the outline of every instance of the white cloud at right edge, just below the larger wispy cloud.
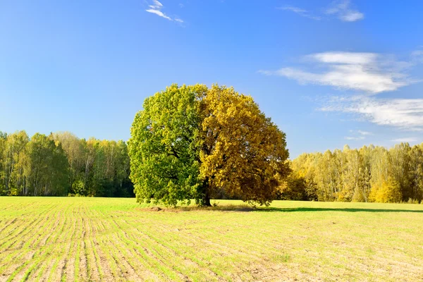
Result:
M331 97L320 110L355 114L371 123L401 130L423 131L423 99Z

